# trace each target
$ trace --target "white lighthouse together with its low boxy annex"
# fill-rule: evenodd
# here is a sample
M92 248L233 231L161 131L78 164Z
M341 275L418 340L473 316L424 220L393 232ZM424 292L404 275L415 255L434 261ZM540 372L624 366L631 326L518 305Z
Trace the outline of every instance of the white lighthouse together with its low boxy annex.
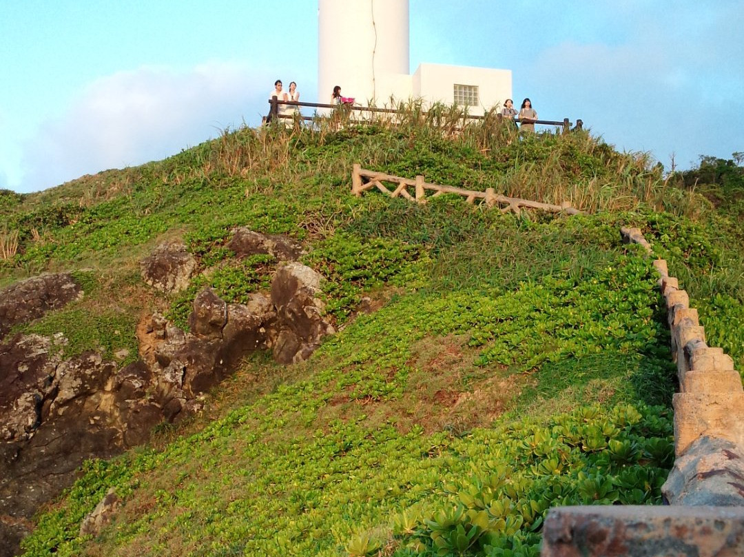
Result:
M333 87L363 105L423 99L471 114L511 98L511 70L421 64L410 74L408 0L318 0L318 102Z

